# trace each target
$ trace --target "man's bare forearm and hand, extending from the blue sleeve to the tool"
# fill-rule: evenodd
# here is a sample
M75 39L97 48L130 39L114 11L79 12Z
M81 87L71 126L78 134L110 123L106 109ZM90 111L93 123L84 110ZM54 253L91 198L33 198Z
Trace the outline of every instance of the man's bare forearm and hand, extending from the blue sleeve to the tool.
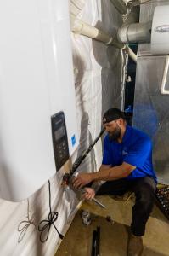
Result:
M99 172L93 173L80 173L77 177L75 177L73 181L73 185L75 188L82 188L87 183L91 183L92 181L110 181L115 179L120 179L127 177L136 166L132 166L123 162L121 166L104 166L102 165L99 169Z

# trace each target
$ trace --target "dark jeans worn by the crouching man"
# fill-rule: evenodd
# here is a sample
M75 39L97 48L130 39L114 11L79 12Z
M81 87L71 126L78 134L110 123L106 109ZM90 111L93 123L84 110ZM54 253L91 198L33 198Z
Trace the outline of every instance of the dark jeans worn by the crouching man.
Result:
M123 195L127 191L135 194L136 201L132 207L131 230L135 236L144 236L145 224L155 201L155 180L152 177L140 177L135 180L118 179L105 182L96 195Z

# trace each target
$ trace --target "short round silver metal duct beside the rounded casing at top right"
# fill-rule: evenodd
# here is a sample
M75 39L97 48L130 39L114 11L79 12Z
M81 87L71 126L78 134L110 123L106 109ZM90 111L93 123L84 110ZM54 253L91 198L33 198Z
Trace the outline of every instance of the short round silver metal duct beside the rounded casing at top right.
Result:
M149 43L152 21L147 23L133 23L122 26L117 33L121 43Z

